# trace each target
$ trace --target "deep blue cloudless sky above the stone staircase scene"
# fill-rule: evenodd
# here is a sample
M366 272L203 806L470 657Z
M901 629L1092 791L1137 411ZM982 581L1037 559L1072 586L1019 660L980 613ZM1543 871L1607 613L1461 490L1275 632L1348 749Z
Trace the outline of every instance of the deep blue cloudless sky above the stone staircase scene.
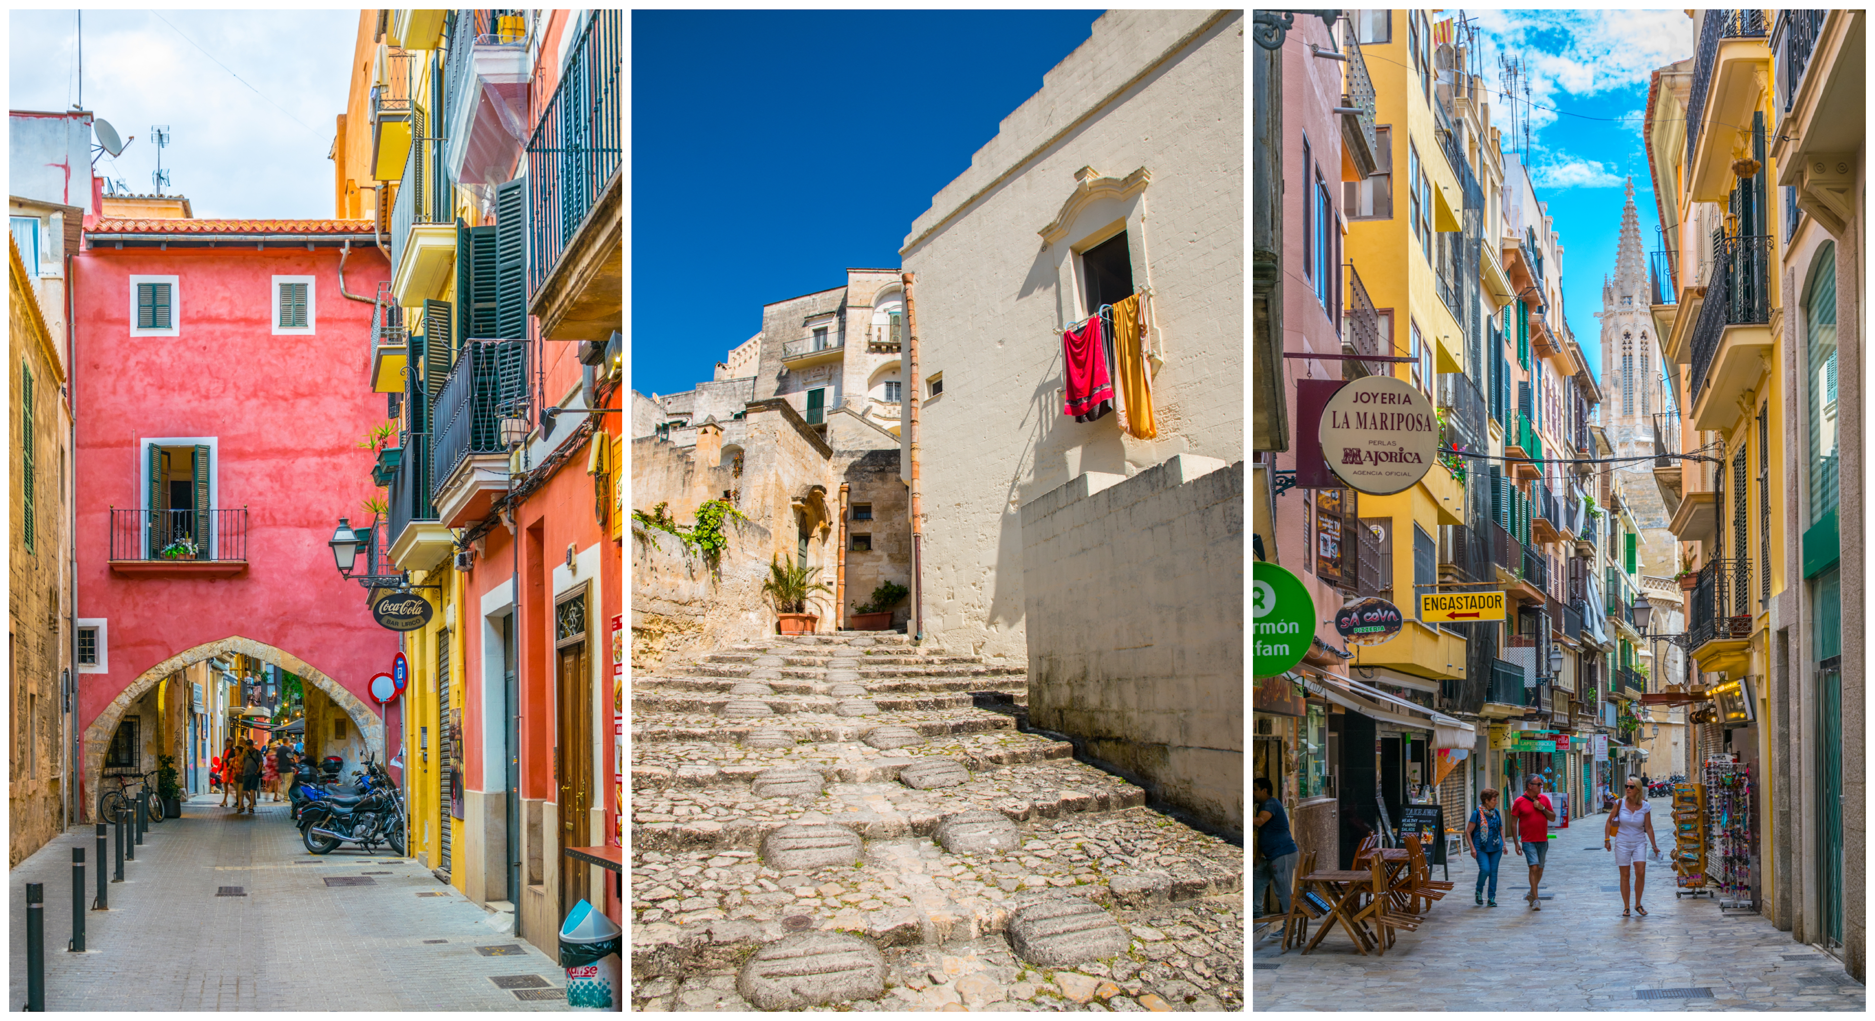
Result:
M1101 11L632 11L632 388L761 305L898 266L930 199Z

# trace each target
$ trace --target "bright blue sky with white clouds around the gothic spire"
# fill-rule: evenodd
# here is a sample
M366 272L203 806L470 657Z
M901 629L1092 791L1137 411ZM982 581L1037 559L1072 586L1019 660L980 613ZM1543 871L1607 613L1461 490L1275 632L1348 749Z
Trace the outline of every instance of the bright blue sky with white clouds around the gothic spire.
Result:
M1601 277L1614 268L1628 176L1635 182L1642 247L1658 247L1659 215L1641 135L1656 67L1693 54L1684 11L1521 9L1466 11L1483 36L1485 84L1498 88L1498 54L1521 54L1530 71L1530 169L1564 247L1564 311L1596 378L1601 378ZM1444 17L1444 15L1434 15ZM1551 109L1545 109L1551 107ZM1504 96L1491 122L1509 126ZM1504 148L1509 152L1511 139Z

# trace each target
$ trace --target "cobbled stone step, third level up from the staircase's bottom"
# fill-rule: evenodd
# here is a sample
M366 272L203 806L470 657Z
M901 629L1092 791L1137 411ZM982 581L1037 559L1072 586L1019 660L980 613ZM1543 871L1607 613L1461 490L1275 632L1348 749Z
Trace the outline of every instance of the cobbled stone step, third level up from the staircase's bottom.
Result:
M866 839L926 837L939 821L964 811L996 813L1014 822L1112 813L1146 804L1146 791L1072 759L1039 761L969 772L956 759L906 755L921 766L947 766L943 787L917 789L906 779L829 783L810 768L742 770L709 787L634 791L634 847L756 851L774 830L838 822ZM883 772L883 770L881 770ZM919 777L915 783L930 783Z

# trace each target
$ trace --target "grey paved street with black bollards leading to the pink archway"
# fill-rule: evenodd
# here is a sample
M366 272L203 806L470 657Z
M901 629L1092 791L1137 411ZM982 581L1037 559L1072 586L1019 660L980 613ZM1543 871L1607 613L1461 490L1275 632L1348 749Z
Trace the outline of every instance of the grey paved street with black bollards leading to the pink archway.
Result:
M197 796L152 826L111 910L71 937L71 849L84 847L86 907L96 830L75 828L8 877L9 1008L26 1002L26 882L45 884L47 1010L568 1010L566 974L411 858L308 854L285 804L232 815ZM107 866L109 867L109 866ZM369 875L371 886L326 886ZM246 897L218 897L240 886ZM429 895L424 895L429 894ZM437 895L441 894L441 895ZM476 948L508 946L501 955ZM521 1000L495 976L527 976L555 999Z

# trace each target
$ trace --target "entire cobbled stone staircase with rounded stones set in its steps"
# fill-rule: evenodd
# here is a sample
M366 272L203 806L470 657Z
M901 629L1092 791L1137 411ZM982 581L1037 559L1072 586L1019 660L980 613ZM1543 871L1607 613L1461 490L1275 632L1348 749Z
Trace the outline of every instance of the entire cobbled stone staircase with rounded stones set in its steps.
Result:
M638 1010L1241 1010L1243 852L891 631L632 680Z

